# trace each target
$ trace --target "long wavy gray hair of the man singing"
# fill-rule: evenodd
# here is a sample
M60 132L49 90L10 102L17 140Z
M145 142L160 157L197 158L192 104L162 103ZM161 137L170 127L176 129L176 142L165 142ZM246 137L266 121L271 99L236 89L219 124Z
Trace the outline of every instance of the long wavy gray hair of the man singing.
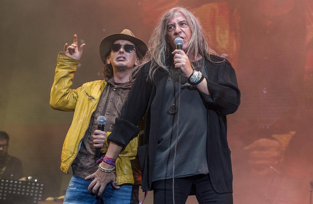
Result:
M199 19L186 8L174 7L165 11L160 16L156 27L151 33L151 38L148 43L148 52L141 63L131 71L130 78L134 78L134 76L138 74L140 68L147 62L151 62L149 71L149 78L151 81L154 81L153 77L157 69L161 68L169 72L170 67L166 66L165 60L171 55L172 47L167 40L167 24L173 14L177 12L180 12L185 16L187 24L192 31L191 39L188 42L187 48L184 50L189 57L189 60L193 62L198 56L210 60L210 54L217 55L217 53L208 46L208 40L204 36L205 32Z

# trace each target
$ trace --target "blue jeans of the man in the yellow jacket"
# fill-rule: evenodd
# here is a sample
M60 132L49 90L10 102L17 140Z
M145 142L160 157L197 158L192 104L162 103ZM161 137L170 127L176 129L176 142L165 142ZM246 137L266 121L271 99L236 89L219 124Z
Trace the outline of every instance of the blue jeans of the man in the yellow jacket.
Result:
M139 185L121 185L117 190L108 184L99 197L87 188L91 180L73 175L69 181L63 204L133 204L138 203Z

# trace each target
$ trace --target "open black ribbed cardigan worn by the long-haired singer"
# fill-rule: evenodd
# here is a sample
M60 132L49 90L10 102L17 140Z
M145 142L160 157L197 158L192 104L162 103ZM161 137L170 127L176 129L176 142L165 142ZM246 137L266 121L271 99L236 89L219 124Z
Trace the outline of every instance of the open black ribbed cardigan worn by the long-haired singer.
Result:
M172 58L168 58L167 66ZM224 58L210 55L212 61ZM211 96L199 92L207 103L208 114L208 169L213 188L218 193L232 192L232 167L230 150L227 143L226 115L235 112L240 104L240 91L236 74L228 62L212 63L205 60L208 73L207 84ZM138 134L138 122L146 114L143 145L138 147L138 157L141 166L142 189L151 190L151 167L155 161L158 126L162 108L163 93L168 72L158 69L154 82L147 80L150 63L144 65L138 74L121 118L116 118L115 128L108 140L126 146ZM153 189L152 189L153 190Z

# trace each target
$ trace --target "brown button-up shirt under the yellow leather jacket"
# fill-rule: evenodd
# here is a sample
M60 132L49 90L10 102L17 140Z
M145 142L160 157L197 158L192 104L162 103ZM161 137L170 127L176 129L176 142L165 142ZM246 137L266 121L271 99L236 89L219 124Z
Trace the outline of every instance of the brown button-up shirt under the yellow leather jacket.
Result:
M121 116L121 109L126 102L128 93L131 89L131 83L126 82L120 85L115 85L113 77L105 79L107 86L103 90L98 106L95 112L91 115L89 126L80 146L80 150L72 165L73 174L85 178L86 176L95 173L98 169L95 158L95 147L93 146L93 133L97 129L97 118L104 116L106 123L104 131L111 132L115 125L115 118Z

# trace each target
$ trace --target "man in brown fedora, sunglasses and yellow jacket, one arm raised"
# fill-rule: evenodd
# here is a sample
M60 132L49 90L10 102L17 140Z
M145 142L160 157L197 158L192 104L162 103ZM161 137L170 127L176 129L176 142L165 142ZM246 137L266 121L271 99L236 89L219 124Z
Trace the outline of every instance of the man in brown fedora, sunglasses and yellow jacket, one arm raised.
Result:
M109 145L107 136L115 125L115 118L121 116L132 85L131 70L145 55L147 46L128 29L106 36L100 43L100 57L105 65L102 76L105 79L71 89L85 46L81 44L78 48L77 41L77 35L74 35L73 44L68 46L66 43L63 52L59 53L50 95L52 108L74 112L61 154L61 170L65 173L70 167L73 170L64 203L138 203L141 184L136 159L138 137L127 145L118 159L113 160L104 154ZM99 116L106 118L104 131L97 130ZM101 148L101 160L95 156L96 148ZM103 168L103 163L110 164L112 168ZM85 180L87 176L90 180ZM111 184L101 186L102 177L109 177ZM97 182L97 194L87 190L91 182Z

